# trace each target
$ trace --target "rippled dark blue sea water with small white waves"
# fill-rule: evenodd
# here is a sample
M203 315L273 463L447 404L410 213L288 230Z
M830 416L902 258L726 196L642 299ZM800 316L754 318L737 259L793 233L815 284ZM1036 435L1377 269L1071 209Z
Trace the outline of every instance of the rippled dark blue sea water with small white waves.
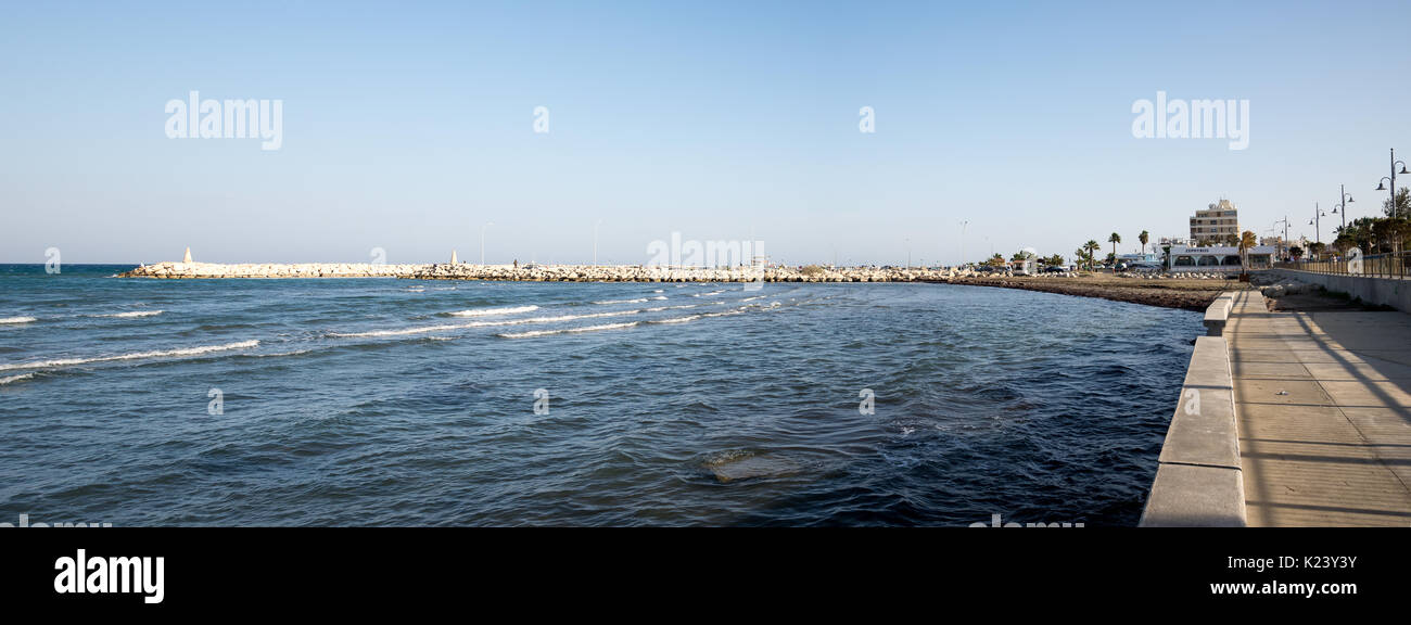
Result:
M120 269L0 267L0 522L1134 525L1202 332L978 286Z

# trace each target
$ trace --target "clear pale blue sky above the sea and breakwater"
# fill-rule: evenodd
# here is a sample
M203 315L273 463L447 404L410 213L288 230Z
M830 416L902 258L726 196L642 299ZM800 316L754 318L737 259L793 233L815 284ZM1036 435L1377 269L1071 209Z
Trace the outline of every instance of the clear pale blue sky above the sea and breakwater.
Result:
M1312 237L1411 159L1411 3L31 3L0 20L0 262L789 264L1072 255L1242 226ZM284 102L282 147L164 106ZM1249 147L1132 106L1247 99ZM533 109L549 109L535 133ZM859 109L875 110L872 134ZM1398 152L1401 154L1401 152ZM1403 185L1403 181L1397 181ZM1411 176L1404 181L1411 185ZM1332 217L1322 220L1326 238Z

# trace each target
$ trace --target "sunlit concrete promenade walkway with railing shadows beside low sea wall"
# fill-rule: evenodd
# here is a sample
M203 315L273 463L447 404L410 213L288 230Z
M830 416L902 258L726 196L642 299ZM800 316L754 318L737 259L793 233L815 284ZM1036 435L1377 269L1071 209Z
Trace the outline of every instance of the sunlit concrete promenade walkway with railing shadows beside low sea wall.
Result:
M1223 337L1250 526L1411 526L1411 315L1268 312Z

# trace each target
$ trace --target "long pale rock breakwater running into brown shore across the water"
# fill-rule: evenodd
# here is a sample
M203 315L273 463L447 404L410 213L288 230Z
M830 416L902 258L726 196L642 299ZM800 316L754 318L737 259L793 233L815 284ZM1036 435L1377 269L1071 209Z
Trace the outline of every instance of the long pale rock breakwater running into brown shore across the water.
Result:
M752 282L759 271L749 268L665 268L642 265L476 265L468 262L371 264L219 264L157 262L119 274L121 278L214 279L214 278L408 278L515 282ZM1161 277L1167 278L1167 277ZM1223 279L1180 275L1173 279L1091 279L1071 274L1040 277L976 275L957 269L923 268L820 268L772 267L765 282L940 282L1043 291L1085 298L1102 298L1150 306L1204 310L1221 292Z

